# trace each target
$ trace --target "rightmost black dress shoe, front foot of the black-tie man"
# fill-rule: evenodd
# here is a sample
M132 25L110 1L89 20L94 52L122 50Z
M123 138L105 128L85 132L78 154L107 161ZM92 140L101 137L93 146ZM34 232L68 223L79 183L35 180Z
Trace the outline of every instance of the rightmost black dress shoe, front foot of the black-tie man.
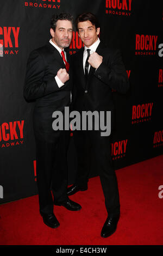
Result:
M108 237L116 231L119 218L120 218L120 215L117 215L115 217L108 216L108 218L106 218L106 221L101 231L102 237Z

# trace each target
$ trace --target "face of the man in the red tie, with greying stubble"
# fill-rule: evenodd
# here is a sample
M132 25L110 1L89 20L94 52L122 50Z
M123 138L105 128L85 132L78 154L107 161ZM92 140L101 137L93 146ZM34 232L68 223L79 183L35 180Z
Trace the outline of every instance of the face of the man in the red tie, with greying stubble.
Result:
M51 28L52 41L61 50L68 47L72 39L72 23L68 20L58 20L55 32Z

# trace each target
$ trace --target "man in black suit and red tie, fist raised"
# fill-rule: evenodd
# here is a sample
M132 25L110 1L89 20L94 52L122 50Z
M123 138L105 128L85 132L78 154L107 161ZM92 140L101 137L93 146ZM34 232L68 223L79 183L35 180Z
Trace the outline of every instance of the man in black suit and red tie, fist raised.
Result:
M52 128L53 112L64 113L65 106L71 103L72 69L64 48L70 45L72 39L72 21L70 14L52 17L52 39L46 46L30 53L24 86L24 97L28 101L35 100L33 124L40 214L43 222L51 228L59 226L53 204L72 211L81 209L66 193L66 154L70 134Z

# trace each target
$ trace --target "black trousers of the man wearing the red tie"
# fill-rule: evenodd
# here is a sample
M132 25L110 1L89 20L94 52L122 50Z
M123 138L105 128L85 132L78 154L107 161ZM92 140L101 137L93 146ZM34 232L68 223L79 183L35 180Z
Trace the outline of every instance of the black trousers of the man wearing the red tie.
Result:
M35 136L40 213L45 214L53 213L53 197L54 202L67 199L67 149L70 133L69 131L55 131L55 133L53 143Z

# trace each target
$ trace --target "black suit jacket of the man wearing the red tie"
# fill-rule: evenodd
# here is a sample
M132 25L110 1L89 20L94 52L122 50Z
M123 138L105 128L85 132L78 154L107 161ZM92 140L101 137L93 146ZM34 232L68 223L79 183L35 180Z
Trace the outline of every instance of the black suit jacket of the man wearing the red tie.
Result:
M67 62L70 56L67 53ZM26 100L35 100L33 121L34 132L38 139L54 142L58 132L52 129L54 111L64 111L70 105L72 87L71 64L70 80L64 86L58 87L55 76L58 70L65 68L64 61L57 49L50 43L29 55L27 62L24 97Z

